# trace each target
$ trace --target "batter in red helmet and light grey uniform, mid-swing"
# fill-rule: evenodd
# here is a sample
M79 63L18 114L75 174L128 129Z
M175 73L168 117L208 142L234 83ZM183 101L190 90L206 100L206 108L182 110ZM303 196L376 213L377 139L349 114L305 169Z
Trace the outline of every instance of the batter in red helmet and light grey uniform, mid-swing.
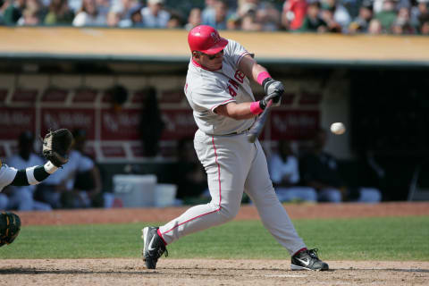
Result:
M231 221L239 212L245 191L257 206L265 228L289 251L293 270L327 270L316 250L307 249L276 197L259 141L249 143L246 137L270 100L280 105L282 83L273 80L243 46L221 38L212 27L191 29L188 42L192 57L184 89L198 125L194 147L206 169L212 200L189 208L159 228L142 230L147 268L156 268L166 245ZM262 100L255 101L249 80L264 87Z

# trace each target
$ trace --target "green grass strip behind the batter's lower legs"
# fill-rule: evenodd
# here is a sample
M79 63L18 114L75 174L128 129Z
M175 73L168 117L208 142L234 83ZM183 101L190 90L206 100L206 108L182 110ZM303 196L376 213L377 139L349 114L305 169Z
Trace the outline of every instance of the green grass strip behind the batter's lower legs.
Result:
M429 216L295 220L324 260L429 261ZM153 225L153 224L152 224ZM2 258L140 257L142 223L26 226ZM223 224L168 247L171 258L289 258L259 221Z

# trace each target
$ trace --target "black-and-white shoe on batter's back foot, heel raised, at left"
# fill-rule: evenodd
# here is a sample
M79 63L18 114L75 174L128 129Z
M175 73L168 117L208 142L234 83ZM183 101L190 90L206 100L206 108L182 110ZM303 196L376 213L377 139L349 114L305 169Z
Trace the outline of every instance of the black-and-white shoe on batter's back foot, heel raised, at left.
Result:
M165 252L165 257L168 256L167 248L165 248L164 240L158 235L157 227L145 227L141 238L144 240L143 261L146 263L147 269L155 269L158 258Z

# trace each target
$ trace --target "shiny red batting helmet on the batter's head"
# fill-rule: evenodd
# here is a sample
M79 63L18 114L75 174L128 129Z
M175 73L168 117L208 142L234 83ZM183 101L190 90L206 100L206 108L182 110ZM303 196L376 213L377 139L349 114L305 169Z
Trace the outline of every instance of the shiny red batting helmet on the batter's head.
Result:
M214 55L228 45L228 40L219 36L216 29L200 25L189 30L188 43L190 51L198 51L207 55Z

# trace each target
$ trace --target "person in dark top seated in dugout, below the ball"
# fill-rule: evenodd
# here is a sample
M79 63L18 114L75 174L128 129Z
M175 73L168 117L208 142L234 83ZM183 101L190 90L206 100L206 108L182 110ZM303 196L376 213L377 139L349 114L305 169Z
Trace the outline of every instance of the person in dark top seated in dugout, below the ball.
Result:
M315 132L313 147L300 161L300 174L308 187L317 190L319 201L340 203L356 201L377 203L381 192L375 188L349 188L341 178L335 157L324 152L327 134L325 130Z

